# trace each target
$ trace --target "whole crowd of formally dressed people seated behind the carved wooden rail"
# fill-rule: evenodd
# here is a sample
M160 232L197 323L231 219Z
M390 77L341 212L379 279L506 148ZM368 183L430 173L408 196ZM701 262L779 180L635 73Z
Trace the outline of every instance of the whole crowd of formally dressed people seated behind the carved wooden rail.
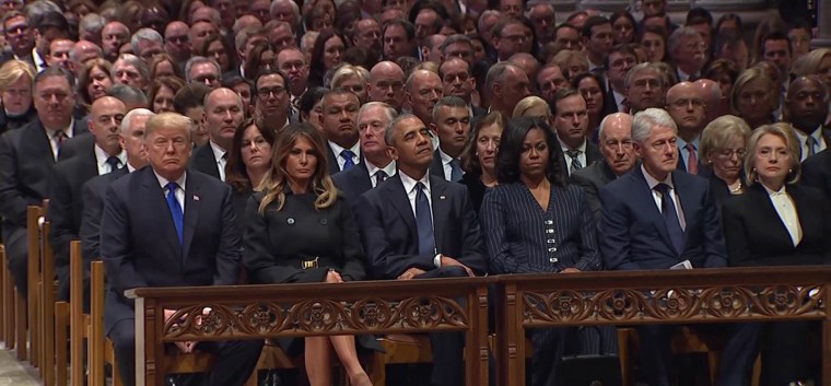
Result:
M2 4L2 269L32 295L26 208L49 199L58 299L81 239L126 385L134 288L831 262L831 50L793 10L749 31L667 0ZM644 383L678 381L674 329L636 328ZM718 385L749 385L760 352L763 385L818 381L815 325L725 330ZM528 338L532 386L618 352L613 327ZM430 384L461 385L464 336L430 340ZM262 346L176 350L214 352L194 379L225 386ZM335 360L371 385L358 353L383 350L279 346L312 386Z

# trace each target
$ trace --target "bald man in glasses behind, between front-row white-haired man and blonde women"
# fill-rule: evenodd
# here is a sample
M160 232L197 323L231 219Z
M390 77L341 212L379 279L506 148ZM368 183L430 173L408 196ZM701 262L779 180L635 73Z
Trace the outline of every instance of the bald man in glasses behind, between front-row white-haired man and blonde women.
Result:
M690 174L699 174L699 139L704 129L706 108L701 91L692 82L681 82L667 91L666 110L678 126L677 168Z

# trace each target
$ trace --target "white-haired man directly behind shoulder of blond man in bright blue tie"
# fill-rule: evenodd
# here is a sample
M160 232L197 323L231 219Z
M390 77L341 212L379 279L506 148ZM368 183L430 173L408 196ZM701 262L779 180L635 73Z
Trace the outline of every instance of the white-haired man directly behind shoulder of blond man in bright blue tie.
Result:
M84 311L87 312L90 304L90 262L101 259L101 215L104 212L104 195L107 187L114 180L140 169L148 164L147 149L144 148L144 125L152 117L153 112L147 108L137 108L124 116L120 125L119 143L127 154L127 162L112 173L95 176L82 187L81 226L78 236L81 239L81 249L84 261Z

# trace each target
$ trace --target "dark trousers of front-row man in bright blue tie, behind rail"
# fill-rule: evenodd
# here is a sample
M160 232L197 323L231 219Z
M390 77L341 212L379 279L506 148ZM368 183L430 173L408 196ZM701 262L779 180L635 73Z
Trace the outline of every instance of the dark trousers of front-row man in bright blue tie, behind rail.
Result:
M136 385L136 320L122 319L109 331L113 340L118 373L125 386ZM216 354L216 361L208 376L209 386L243 386L257 366L262 340L230 340L200 342L200 351Z

